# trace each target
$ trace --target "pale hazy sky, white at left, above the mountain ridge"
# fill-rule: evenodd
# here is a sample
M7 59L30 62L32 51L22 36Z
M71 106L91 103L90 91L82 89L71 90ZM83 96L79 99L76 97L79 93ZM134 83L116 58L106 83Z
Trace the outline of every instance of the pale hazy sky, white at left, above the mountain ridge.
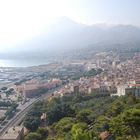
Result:
M140 0L0 0L0 52L40 34L56 18L140 25Z

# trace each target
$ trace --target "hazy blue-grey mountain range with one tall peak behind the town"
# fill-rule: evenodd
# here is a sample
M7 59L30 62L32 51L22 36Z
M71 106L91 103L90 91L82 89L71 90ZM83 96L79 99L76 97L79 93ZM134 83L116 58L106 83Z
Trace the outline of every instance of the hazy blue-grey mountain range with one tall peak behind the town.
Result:
M127 45L140 46L140 28L132 25L92 26L76 23L67 17L57 20L42 34L19 44L29 55L37 53L54 53L87 46L97 49L112 47L123 48ZM135 46L134 45L134 46ZM32 53L32 54L31 54Z

